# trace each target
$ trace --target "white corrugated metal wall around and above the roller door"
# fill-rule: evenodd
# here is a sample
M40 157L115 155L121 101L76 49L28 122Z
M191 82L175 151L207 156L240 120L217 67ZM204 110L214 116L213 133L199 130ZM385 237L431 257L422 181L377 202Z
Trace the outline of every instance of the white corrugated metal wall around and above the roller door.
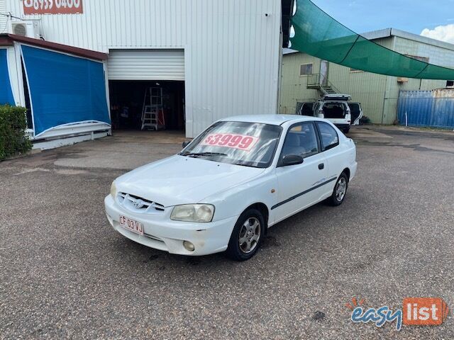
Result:
M280 0L82 1L83 14L26 18L46 40L92 50L184 49L188 137L229 115L277 113ZM23 17L21 0L6 9Z

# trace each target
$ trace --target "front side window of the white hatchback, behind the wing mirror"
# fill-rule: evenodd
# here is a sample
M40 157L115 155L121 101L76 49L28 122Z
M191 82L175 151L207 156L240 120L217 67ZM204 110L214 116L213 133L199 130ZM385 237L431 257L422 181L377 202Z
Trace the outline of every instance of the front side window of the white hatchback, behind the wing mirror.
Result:
M299 123L293 125L287 132L281 159L289 154L296 154L303 158L310 157L319 152L317 135L313 123Z

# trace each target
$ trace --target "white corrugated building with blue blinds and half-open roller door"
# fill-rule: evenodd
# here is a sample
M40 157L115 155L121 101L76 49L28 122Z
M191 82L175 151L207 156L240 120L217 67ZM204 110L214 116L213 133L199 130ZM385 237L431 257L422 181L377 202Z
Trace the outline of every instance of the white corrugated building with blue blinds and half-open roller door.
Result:
M9 34L1 39L0 64L10 79L1 91L28 108L35 141L93 137L111 127L139 130L145 113L145 123L159 125L151 128L194 137L219 118L278 111L292 0L4 0L0 6L7 14L0 16L0 33ZM74 130L80 124L83 131Z

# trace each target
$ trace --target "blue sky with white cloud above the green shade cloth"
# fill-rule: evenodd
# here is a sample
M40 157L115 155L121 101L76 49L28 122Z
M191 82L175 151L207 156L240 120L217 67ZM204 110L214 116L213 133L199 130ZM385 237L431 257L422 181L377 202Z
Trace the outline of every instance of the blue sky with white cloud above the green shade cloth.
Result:
M397 28L454 43L454 0L312 0L356 33Z

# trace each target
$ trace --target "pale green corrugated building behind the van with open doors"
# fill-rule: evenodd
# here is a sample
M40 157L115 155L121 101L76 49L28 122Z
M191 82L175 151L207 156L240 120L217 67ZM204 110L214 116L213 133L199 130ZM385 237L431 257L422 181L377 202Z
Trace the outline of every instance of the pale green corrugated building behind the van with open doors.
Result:
M362 34L390 50L423 62L454 68L454 45L388 28ZM311 102L323 94L350 94L360 102L372 123L397 120L400 91L444 89L453 81L408 79L362 72L305 53L284 49L279 113L295 113L298 103Z

